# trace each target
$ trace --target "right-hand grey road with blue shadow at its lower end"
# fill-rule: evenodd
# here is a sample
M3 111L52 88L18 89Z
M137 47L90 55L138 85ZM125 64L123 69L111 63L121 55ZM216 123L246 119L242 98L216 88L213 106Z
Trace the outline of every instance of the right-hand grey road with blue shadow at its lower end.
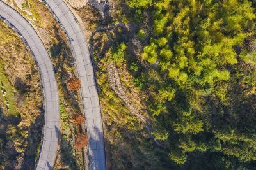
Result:
M83 31L73 13L63 0L43 0L56 20L63 27L76 60L76 68L81 80L83 110L86 117L89 138L88 156L90 169L106 169L102 117L95 83L92 60Z

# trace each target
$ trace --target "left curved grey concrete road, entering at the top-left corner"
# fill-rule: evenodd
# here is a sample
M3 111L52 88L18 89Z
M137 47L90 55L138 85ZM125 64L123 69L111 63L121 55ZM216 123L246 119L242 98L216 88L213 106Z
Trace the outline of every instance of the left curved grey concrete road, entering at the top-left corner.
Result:
M44 134L36 169L52 169L60 134L60 106L57 80L51 58L31 24L3 1L0 1L0 16L22 36L38 66L44 94Z

